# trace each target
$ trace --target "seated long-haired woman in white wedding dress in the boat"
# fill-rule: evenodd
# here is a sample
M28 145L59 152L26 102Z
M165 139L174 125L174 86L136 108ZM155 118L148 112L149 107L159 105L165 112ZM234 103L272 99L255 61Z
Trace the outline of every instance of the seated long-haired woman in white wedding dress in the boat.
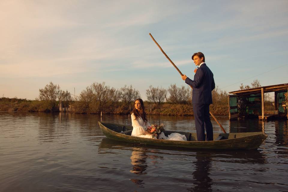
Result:
M131 136L157 139L156 137L153 137L151 133L148 133L146 131L147 128L150 127L151 125L149 124L146 118L143 100L140 98L136 99L134 102L134 109L131 114L131 120L133 126ZM179 133L172 133L168 135L168 137L166 137L162 132L159 135L159 139L187 141L186 136Z

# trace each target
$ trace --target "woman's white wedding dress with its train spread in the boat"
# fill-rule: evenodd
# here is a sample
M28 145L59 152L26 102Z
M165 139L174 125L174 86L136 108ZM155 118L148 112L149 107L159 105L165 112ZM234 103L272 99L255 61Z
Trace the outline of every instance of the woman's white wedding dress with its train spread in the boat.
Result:
M131 136L157 139L156 137L153 138L152 134L149 134L146 132L147 128L151 126L148 121L144 125L143 119L140 116L138 117L138 119L135 119L134 113L131 114L131 120L132 120L132 126L133 126ZM164 135L164 133L162 132L159 135L158 139L174 140L174 141L187 141L186 136L179 134L179 133L172 133L172 134L168 135L168 137L166 137Z

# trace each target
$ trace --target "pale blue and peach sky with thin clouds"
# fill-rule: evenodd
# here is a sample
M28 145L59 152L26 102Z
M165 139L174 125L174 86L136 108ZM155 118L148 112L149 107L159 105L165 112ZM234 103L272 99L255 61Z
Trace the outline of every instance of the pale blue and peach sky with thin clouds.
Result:
M288 1L0 1L0 97L34 100L49 82L186 84L203 52L223 91L288 83Z

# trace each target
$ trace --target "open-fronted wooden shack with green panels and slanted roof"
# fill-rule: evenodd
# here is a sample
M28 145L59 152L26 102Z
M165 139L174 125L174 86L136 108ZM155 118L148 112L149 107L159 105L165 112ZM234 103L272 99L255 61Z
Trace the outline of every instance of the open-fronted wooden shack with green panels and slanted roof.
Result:
M264 93L274 92L273 114L264 111ZM288 83L229 92L229 119L288 118Z

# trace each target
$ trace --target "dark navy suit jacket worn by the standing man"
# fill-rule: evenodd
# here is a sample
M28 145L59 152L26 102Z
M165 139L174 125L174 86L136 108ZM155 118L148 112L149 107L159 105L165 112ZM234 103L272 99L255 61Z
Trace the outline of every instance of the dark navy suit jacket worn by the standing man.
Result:
M203 63L196 71L194 80L188 77L185 83L193 87L192 104L212 104L212 90L215 82L212 71Z

